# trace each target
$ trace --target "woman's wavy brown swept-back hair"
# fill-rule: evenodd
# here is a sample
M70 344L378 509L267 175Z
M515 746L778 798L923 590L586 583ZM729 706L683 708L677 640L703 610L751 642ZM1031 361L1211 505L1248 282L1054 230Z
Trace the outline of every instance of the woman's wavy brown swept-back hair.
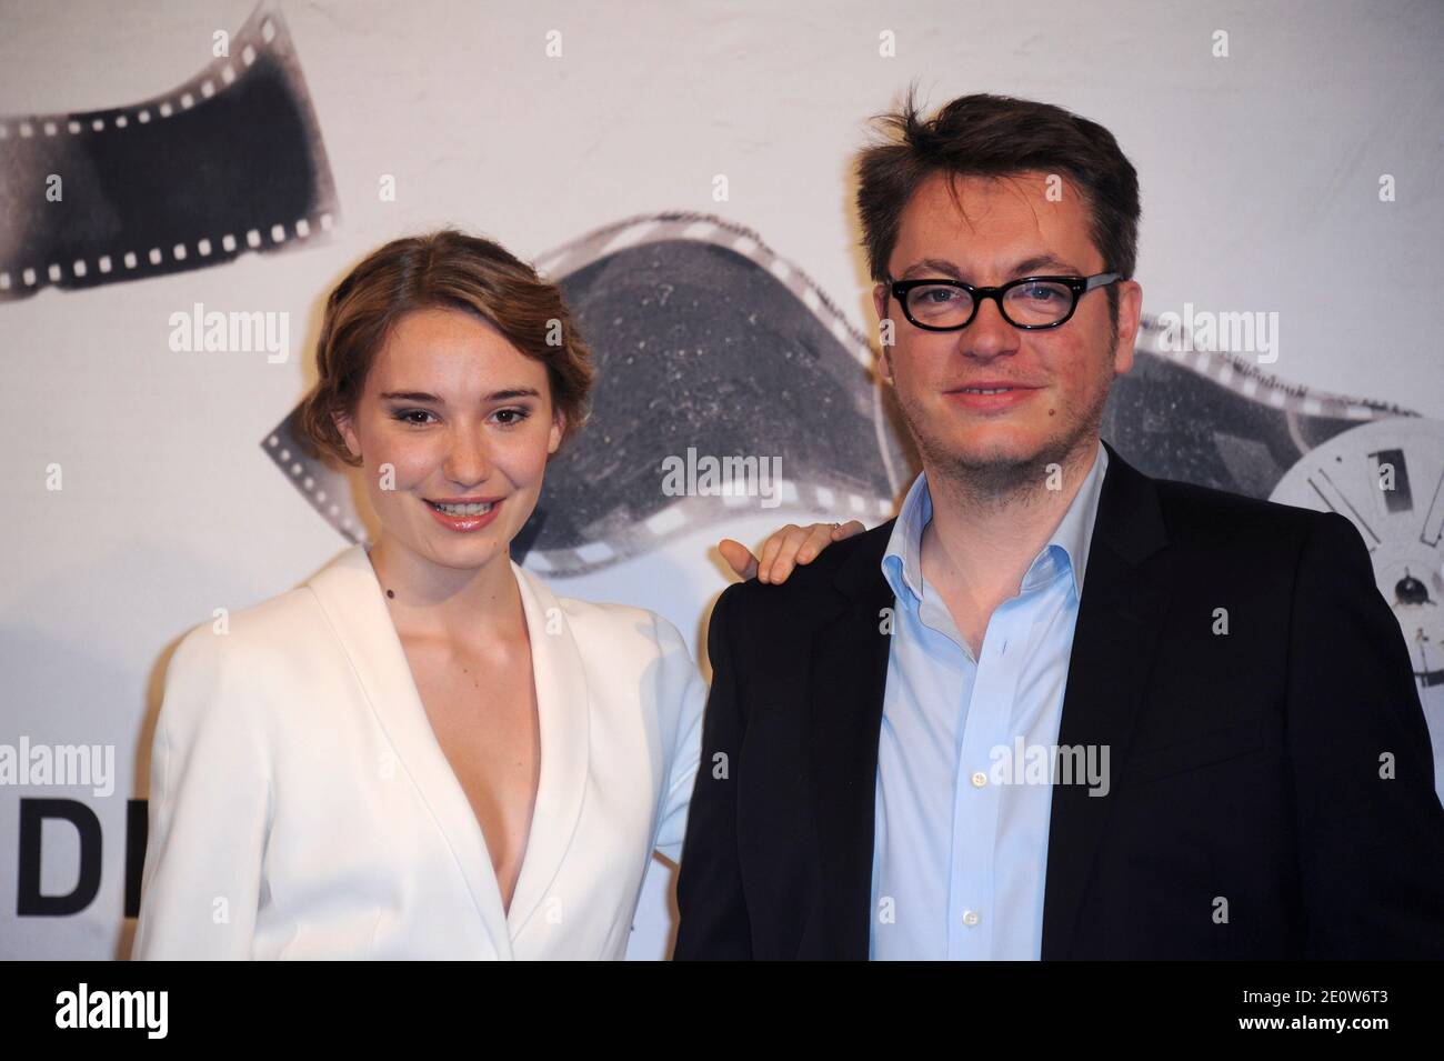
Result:
M566 416L563 443L582 427L593 367L560 287L491 240L443 228L377 248L331 292L316 341L321 378L299 410L302 442L342 463L361 463L332 417L355 414L391 329L404 315L430 307L472 313L544 364L553 409Z

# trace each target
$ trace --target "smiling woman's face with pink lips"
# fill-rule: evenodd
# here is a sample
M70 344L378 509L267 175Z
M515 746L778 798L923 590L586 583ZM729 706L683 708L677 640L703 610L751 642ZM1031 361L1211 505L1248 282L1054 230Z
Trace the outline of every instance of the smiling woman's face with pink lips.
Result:
M432 563L475 569L510 556L563 417L540 361L471 313L420 309L391 329L355 417L336 427L362 459L383 534Z

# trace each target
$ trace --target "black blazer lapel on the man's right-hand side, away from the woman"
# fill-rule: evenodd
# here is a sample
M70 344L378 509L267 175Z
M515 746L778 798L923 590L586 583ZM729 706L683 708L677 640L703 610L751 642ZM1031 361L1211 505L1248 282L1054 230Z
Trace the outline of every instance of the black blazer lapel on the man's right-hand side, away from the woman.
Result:
M1108 456L1073 632L1058 745L1108 746L1109 767L1116 774L1128 752L1162 625L1164 595L1144 560L1167 544L1167 531L1152 481L1112 446ZM1112 803L1090 797L1087 785L1053 788L1044 960L1070 957Z

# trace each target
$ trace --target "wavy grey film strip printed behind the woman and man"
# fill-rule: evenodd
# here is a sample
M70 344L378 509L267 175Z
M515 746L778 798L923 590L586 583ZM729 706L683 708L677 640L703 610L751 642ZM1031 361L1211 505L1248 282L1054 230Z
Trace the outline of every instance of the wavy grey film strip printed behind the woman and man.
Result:
M553 459L513 556L585 575L703 525L747 497L664 497L661 462L695 447L783 456L784 514L875 524L915 475L868 339L757 232L702 214L606 225L537 267L560 283L598 362L592 417ZM1219 351L1170 351L1145 319L1103 436L1149 475L1269 497L1305 453L1362 424L1414 416L1311 391ZM263 449L348 541L368 540L347 476L297 442L296 411Z

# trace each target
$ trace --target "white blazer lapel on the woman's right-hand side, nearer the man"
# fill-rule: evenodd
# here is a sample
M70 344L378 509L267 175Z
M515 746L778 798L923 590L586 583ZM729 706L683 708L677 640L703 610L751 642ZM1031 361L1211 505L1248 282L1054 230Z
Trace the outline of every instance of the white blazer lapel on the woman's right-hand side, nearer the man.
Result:
M521 588L531 638L531 674L536 680L542 728L542 778L531 811L526 857L508 920L513 935L536 914L562 870L562 862L586 791L591 697L582 655L572 626L544 582L511 564Z

